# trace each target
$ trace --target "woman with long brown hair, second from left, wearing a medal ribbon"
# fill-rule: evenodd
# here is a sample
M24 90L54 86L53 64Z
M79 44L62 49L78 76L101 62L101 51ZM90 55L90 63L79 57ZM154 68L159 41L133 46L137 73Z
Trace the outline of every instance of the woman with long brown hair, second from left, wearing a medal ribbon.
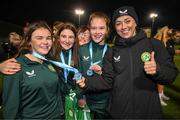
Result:
M57 29L56 36L58 36L58 44L56 49L56 57L62 63L65 63L69 66L77 68L78 66L78 41L76 38L76 27L72 23L64 23ZM65 83L70 89L76 88L76 83L73 80L74 73L68 71L67 69L63 70Z

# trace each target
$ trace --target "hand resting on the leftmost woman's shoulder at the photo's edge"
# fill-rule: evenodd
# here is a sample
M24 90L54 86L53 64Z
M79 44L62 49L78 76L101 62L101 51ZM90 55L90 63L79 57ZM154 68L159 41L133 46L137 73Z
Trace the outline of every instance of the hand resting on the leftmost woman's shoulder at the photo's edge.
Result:
M6 75L12 75L21 70L21 65L16 59L11 58L0 64L0 72Z

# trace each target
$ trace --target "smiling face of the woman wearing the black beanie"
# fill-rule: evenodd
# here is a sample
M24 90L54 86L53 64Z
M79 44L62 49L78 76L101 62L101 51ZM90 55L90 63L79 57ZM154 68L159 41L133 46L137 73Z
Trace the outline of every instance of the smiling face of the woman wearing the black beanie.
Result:
M115 21L115 29L119 36L122 38L131 38L136 34L136 22L129 16L120 16Z

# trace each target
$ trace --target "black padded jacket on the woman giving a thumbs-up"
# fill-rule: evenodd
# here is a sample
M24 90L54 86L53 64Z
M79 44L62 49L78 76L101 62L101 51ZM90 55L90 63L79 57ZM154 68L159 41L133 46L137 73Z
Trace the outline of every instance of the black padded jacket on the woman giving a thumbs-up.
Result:
M145 73L141 60L143 52L152 51L155 51L158 64L154 76ZM111 89L108 109L112 118L161 118L156 84L169 84L177 74L178 70L163 44L148 39L143 31L139 31L130 39L117 37L115 46L104 57L102 76L87 78L85 90Z

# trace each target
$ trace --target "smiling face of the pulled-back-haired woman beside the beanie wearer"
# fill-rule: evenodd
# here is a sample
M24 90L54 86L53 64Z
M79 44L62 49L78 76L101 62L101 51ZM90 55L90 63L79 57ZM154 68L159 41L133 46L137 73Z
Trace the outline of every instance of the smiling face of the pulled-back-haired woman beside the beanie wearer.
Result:
M94 17L90 22L90 34L95 43L104 44L108 34L108 26L104 18Z

